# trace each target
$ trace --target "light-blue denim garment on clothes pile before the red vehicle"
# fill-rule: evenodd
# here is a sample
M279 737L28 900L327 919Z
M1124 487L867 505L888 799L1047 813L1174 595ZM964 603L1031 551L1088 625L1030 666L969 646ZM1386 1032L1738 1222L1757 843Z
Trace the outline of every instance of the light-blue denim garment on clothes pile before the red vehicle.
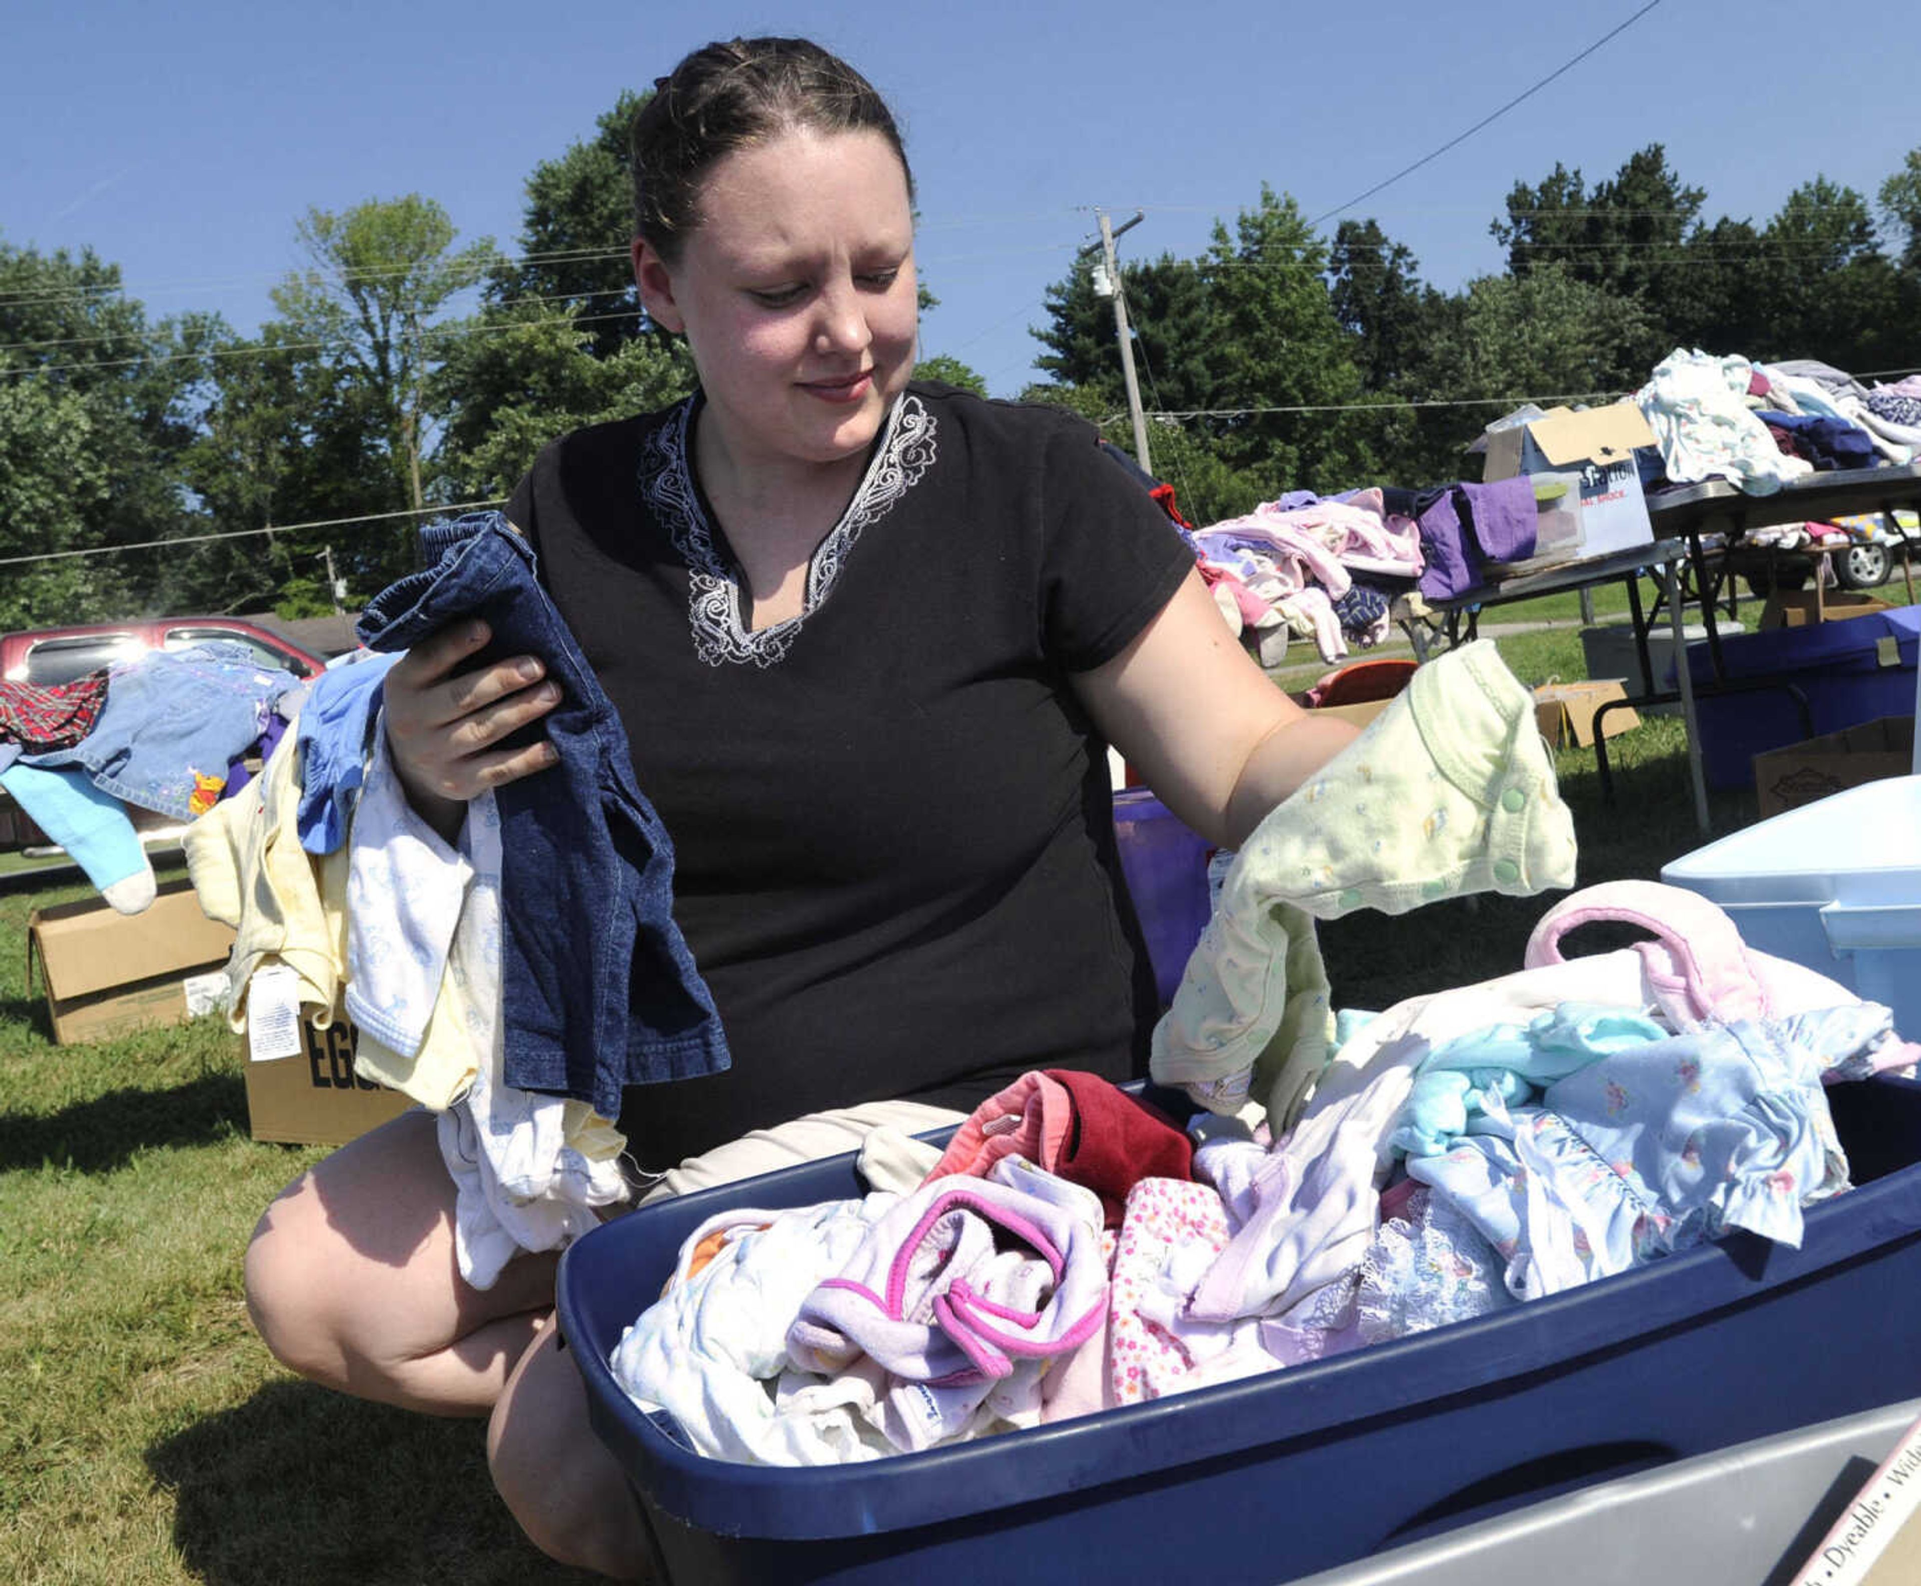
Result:
M229 639L154 651L108 674L108 703L71 749L21 755L29 766L79 766L102 793L175 820L213 806L227 764L259 737L294 676L259 666Z

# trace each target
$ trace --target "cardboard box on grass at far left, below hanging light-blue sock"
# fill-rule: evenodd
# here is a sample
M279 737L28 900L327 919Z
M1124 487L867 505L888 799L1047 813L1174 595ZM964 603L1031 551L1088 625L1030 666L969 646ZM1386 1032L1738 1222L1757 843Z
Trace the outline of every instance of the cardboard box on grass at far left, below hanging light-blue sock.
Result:
M232 925L200 912L190 881L167 881L140 914L102 899L36 908L27 981L38 960L56 1045L106 1041L215 1012L232 945Z

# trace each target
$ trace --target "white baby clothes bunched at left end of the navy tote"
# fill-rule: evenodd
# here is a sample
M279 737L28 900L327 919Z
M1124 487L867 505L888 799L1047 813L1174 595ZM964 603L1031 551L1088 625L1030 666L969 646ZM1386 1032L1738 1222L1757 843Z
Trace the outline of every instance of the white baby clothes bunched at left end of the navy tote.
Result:
M709 1459L843 1465L893 1454L859 1413L878 1396L872 1375L864 1392L861 1379L832 1390L834 1379L793 1369L786 1338L801 1300L839 1273L897 1204L895 1194L870 1194L715 1214L682 1242L661 1298L620 1336L609 1359L615 1379L642 1409L670 1415ZM703 1246L711 1260L690 1275ZM770 1394L768 1384L780 1386Z

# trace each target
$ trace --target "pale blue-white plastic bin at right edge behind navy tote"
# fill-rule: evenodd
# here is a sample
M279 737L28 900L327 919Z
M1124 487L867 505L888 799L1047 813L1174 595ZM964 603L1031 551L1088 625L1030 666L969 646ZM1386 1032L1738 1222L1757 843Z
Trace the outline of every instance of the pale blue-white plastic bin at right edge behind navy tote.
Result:
M1921 776L1783 810L1662 866L1717 902L1742 941L1894 1010L1921 1039Z

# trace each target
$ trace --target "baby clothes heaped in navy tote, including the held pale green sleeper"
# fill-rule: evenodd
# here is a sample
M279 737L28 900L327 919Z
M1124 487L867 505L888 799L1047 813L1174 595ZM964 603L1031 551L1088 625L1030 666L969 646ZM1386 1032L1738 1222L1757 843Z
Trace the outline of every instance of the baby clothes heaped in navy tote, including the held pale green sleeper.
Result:
M1593 887L1512 975L1329 1006L1316 920L1571 885L1531 722L1491 645L1420 668L1235 854L1153 1037L1176 1106L1037 1071L945 1148L876 1131L868 1194L695 1227L617 1381L703 1455L843 1463L1325 1359L1729 1229L1796 1244L1848 1189L1823 1085L1921 1048L1704 899ZM1564 960L1593 922L1652 941Z

